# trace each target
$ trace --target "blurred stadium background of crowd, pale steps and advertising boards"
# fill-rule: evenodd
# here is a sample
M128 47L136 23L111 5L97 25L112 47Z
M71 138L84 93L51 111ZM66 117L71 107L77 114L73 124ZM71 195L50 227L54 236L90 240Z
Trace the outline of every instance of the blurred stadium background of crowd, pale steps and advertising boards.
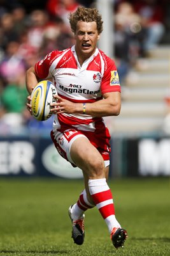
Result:
M67 15L97 7L98 47L115 60L122 85L111 132L110 177L170 175L170 3L168 0L0 0L0 175L63 177L81 172L50 139L53 118L38 122L25 108L25 70L53 49L74 44Z

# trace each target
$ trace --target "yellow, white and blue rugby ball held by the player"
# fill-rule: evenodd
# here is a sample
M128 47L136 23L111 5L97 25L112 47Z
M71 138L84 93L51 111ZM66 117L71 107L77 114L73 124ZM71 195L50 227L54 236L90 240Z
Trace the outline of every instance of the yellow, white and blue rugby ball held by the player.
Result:
M57 90L51 81L43 80L34 87L31 93L31 109L34 118L45 121L52 116L50 103L56 101L53 97L55 94Z

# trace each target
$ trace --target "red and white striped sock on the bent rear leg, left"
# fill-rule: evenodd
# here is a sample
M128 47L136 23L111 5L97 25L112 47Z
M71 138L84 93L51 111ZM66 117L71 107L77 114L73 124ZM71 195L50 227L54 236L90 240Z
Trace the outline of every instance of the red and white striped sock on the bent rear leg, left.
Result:
M73 218L73 220L78 220L79 218L81 218L83 216L83 213L85 211L93 208L94 206L95 205L91 204L87 200L87 193L84 189L83 192L81 193L81 195L79 196L78 201L72 207L71 217Z

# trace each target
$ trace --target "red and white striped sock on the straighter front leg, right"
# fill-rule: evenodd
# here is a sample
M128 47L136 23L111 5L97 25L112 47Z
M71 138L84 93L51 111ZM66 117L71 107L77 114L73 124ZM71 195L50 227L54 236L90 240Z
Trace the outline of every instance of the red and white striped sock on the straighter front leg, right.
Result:
M104 221L106 221L109 232L111 233L113 227L120 227L115 217L113 197L106 179L90 179L89 191L97 209L99 209Z

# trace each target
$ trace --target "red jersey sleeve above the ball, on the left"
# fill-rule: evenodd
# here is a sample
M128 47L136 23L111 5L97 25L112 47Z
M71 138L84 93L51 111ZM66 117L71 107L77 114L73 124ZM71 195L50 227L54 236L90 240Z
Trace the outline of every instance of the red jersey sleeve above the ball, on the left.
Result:
M52 61L55 59L55 56L57 56L58 51L52 51L49 54L43 58L43 60L38 61L35 66L35 72L36 76L38 76L40 79L46 79L49 77L52 77L50 74L50 66L52 64Z

